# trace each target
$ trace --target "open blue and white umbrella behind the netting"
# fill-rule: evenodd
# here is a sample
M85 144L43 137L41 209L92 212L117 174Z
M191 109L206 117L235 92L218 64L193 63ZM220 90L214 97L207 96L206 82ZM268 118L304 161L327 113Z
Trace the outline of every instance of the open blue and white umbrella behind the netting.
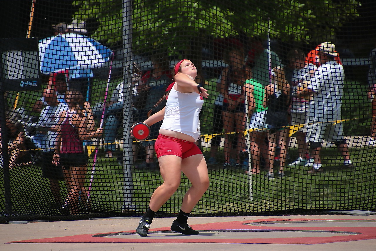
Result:
M39 40L40 69L44 74L69 70L69 78L94 76L92 68L110 60L112 50L77 33L65 33Z

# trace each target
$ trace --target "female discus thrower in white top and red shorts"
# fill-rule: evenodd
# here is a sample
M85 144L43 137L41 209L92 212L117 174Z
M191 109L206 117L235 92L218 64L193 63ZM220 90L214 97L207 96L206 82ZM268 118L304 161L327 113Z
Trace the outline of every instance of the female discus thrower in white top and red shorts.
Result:
M161 98L163 100L168 95L166 106L143 122L151 126L163 120L155 142L163 184L154 191L149 208L136 229L140 236L147 236L155 213L180 186L181 172L188 177L192 186L183 198L171 230L185 235L199 234L187 224L191 211L209 187L208 167L195 144L200 138L199 113L203 97L208 98L208 90L195 82L196 76L196 67L190 60L178 62L174 66L176 82L170 92Z

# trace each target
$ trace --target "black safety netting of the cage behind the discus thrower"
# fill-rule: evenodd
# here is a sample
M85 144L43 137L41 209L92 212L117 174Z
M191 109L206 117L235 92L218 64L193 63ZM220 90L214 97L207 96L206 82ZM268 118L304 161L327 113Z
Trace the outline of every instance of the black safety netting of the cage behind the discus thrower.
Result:
M210 186L194 215L375 210L373 1L3 0L0 10L2 222L143 214L163 183L161 122L144 141L130 128L164 107L153 105L185 58L210 95L196 142ZM158 214L177 213L190 186L182 174Z

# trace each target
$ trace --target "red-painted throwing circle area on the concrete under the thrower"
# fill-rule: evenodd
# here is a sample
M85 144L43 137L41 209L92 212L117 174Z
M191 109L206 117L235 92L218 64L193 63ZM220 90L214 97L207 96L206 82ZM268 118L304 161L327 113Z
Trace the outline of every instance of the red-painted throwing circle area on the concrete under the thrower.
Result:
M270 243L318 244L376 239L375 220L364 219L262 219L192 225L199 235L185 236L169 227L150 229L147 237L135 231L84 234L20 242L118 243Z

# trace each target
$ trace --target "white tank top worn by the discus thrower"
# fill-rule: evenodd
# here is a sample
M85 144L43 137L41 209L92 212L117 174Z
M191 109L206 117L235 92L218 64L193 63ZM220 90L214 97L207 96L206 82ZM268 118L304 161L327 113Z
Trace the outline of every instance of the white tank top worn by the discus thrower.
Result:
M160 129L181 132L199 140L199 115L204 99L198 93L181 93L171 88Z

